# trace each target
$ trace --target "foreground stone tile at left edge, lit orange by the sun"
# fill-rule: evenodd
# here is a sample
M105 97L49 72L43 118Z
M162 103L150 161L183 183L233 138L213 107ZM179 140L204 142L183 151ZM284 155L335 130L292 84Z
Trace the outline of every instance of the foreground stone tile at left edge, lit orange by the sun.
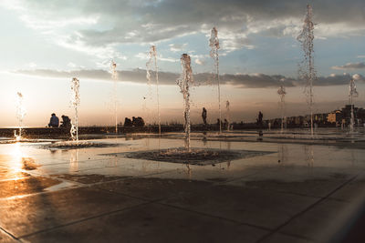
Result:
M1 201L0 227L19 237L141 203L89 187L36 194Z

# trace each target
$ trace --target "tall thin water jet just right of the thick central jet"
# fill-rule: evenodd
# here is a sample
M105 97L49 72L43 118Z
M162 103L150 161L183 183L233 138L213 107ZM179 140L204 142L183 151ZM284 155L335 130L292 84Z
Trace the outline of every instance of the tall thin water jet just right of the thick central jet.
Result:
M211 38L209 39L209 46L211 46L210 55L214 59L214 67L215 67L215 76L218 83L218 109L219 109L219 133L222 133L222 111L221 111L221 86L219 80L219 55L218 50L219 39L218 39L218 31L215 27L213 27L211 31Z

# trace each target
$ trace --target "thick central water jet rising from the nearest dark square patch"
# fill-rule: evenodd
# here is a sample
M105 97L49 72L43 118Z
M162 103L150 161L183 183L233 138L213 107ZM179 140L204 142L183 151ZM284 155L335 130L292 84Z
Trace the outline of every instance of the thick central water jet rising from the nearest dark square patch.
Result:
M193 71L191 65L191 58L187 54L183 54L180 58L182 62L183 73L176 80L180 86L180 92L183 94L184 100L184 128L185 128L185 149L190 151L190 91L189 86L193 85Z

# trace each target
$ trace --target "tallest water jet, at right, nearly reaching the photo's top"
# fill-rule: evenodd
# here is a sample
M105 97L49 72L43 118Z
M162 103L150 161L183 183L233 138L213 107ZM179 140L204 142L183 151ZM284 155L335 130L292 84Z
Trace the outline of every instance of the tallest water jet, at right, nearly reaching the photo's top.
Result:
M313 137L313 82L317 79L316 70L314 68L314 23L313 11L310 5L307 5L307 12L304 19L303 29L297 36L297 41L300 42L304 52L304 58L299 64L299 78L306 81L305 94L310 110L310 134Z

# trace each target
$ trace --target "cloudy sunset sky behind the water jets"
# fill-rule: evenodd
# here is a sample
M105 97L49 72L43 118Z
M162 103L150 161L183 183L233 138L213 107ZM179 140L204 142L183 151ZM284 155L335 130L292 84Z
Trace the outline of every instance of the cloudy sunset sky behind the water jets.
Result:
M157 120L156 82L146 81L151 45L157 47L162 122L183 120L183 95L176 78L180 57L192 57L195 86L192 120L218 117L211 29L220 41L221 106L231 121L280 116L278 87L287 89L286 116L308 114L298 79L303 51L297 41L313 7L314 111L349 102L349 80L359 74L356 106L365 106L365 2L361 0L0 0L0 127L17 126L17 92L23 95L26 127L46 127L50 114L73 119L70 81L80 80L81 126L112 125L115 104L125 116ZM118 70L113 98L110 62ZM281 80L281 81L280 81ZM229 113L226 101L230 103ZM115 102L116 101L116 102Z

